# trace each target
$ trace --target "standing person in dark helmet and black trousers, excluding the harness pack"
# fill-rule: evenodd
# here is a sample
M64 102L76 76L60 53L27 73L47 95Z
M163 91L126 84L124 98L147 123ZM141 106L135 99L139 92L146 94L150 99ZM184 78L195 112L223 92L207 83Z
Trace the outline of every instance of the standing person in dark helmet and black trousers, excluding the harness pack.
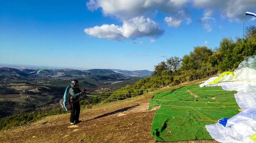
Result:
M69 89L70 93L70 101L71 101L71 114L70 114L70 124L75 125L77 123L80 123L81 120L79 120L80 115L80 102L79 102L79 96L84 94L84 90L81 91L78 88L79 84L77 80L71 81L71 88Z

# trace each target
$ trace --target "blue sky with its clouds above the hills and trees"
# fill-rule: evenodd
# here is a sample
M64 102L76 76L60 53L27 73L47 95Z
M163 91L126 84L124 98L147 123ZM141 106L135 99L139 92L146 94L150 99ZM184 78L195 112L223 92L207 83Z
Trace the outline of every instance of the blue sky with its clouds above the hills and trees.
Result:
M149 70L242 38L255 0L0 1L0 64ZM256 25L246 15L245 27Z

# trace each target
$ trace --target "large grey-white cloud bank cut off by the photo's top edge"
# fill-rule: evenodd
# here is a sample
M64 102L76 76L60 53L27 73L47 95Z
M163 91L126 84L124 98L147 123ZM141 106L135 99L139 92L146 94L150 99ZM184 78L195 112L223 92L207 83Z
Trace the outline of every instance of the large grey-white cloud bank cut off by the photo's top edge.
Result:
M193 8L200 8L230 21L242 21L243 14L255 12L256 7L255 0L90 0L86 5L91 11L101 8L103 14L121 19L143 16L156 9L174 16L179 11L191 13Z

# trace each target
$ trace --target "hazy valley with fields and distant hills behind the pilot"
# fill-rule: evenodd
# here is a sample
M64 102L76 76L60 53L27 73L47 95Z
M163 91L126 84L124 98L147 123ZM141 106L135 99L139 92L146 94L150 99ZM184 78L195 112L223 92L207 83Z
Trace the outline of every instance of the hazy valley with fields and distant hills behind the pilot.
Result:
M88 93L97 94L116 91L143 78L107 69L48 69L50 73L37 73L38 70L0 68L0 118L59 107L59 100L72 79L79 80L80 89L87 87Z

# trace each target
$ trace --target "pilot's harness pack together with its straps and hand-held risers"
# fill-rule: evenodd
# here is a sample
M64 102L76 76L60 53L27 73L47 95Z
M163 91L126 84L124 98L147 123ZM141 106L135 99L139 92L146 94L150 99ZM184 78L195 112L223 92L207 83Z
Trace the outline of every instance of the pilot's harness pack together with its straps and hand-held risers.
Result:
M71 86L68 86L65 93L64 93L64 96L61 100L59 100L59 104L60 104L60 107L64 110L64 111L69 111L69 110L72 110L72 106L71 106L71 100L70 100L70 97L72 96L70 93L69 93L69 89L71 88ZM87 100L87 92L86 91L86 87L83 89L84 93L86 95L82 95L86 100ZM79 101L76 100L76 101L72 101L72 102L77 102Z

